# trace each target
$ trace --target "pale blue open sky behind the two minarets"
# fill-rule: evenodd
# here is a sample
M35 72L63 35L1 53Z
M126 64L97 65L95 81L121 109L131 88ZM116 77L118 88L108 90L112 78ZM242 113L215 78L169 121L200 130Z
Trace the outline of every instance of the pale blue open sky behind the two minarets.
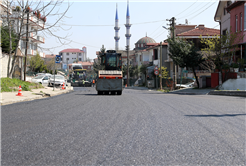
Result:
M204 24L205 27L219 29L219 23L214 21L214 15L219 0L129 0L130 49L145 37L153 38L156 42L167 39L169 31L162 26L169 27L166 19L176 18L176 24L184 24L185 19L190 25ZM118 5L119 18L119 49L126 46L126 10L127 0L72 0L64 1L59 10L65 11L70 5L66 16L58 23L54 34L66 37L62 45L57 37L45 35L45 54L59 54L68 48L82 49L87 47L87 57L96 58L96 51L102 45L106 49L115 49L115 14ZM47 25L56 21L47 17Z

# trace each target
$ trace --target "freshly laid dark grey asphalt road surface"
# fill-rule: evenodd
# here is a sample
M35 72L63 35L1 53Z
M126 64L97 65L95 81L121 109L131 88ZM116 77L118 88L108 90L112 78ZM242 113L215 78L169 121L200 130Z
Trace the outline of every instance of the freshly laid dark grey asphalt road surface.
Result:
M94 88L1 106L0 165L246 165L242 97Z

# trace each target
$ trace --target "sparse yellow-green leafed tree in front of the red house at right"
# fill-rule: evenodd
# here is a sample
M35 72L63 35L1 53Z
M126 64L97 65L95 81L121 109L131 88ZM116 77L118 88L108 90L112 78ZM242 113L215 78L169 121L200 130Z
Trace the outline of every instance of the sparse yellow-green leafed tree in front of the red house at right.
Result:
M202 49L202 54L205 57L205 65L209 70L215 69L219 70L222 76L222 69L230 66L232 63L232 57L235 55L236 51L239 50L238 44L243 41L244 35L242 32L234 33L230 30L230 33L225 35L213 36L213 38L201 38L201 43L205 45ZM210 64L210 65L207 65ZM202 64L204 65L204 64ZM226 80L228 72L225 71L225 77L222 80Z

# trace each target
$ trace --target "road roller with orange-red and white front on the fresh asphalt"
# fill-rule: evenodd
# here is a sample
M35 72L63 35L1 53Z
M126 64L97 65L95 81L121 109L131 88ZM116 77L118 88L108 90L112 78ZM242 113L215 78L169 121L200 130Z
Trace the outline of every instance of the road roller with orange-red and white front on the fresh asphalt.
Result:
M100 55L101 65L104 70L98 71L96 90L98 95L112 94L121 95L123 90L122 82L122 60L121 54L115 50L107 50Z

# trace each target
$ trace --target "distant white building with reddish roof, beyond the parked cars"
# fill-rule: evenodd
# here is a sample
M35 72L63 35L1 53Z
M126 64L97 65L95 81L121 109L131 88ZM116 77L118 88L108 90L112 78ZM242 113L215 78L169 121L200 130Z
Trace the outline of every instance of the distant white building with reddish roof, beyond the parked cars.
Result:
M80 49L65 49L59 52L59 55L62 56L62 64L67 65L75 61L86 62L87 60L87 50L86 47Z

